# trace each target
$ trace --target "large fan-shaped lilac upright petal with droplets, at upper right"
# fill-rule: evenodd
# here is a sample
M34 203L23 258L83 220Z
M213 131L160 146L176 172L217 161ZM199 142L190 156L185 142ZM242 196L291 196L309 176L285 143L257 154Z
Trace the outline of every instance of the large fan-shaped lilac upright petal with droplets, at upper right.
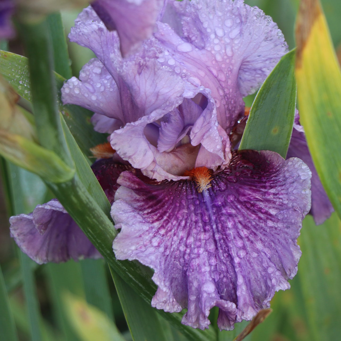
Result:
M163 21L155 36L171 51L165 65L211 89L224 129L243 113L242 97L260 86L287 51L271 18L240 0L172 1Z

